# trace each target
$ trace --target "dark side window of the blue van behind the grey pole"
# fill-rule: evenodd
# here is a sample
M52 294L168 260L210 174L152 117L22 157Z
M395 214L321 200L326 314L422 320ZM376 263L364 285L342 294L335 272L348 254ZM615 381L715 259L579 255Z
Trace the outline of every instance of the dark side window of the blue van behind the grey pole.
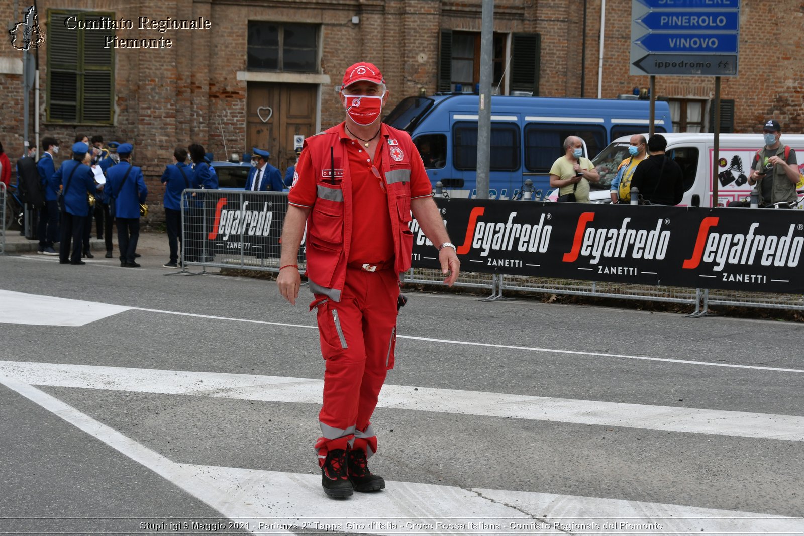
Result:
M478 124L455 123L453 127L453 163L456 170L478 169ZM519 170L519 126L513 123L491 124L491 171Z

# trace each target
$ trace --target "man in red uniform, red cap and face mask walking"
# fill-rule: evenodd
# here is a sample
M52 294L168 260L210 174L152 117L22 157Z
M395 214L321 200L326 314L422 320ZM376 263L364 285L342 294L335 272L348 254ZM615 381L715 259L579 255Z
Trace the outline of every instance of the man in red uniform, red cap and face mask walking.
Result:
M377 450L370 420L394 366L399 276L411 262L411 211L439 244L441 272L449 272L445 284L453 284L460 268L415 145L408 133L380 121L388 90L379 69L366 62L348 68L340 99L345 121L305 140L277 277L280 293L295 305L301 284L295 263L306 224L310 310L318 308L326 360L315 448L330 497L385 487L368 470Z

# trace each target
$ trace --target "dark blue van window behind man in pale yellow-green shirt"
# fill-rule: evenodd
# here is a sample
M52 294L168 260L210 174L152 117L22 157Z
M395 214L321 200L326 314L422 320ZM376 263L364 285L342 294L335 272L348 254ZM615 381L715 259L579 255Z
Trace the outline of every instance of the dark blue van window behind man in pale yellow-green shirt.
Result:
M553 162L564 154L564 140L578 136L586 142L587 158L593 158L606 145L605 128L597 125L525 125L525 168L528 171L550 171Z

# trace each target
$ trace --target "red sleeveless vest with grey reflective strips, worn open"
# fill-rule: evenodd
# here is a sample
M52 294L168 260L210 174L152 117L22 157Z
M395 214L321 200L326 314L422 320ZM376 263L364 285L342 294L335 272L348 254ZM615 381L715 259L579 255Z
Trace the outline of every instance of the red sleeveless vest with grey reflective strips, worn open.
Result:
M354 205L349 174L348 140L335 125L305 140L313 163L317 197L307 219L306 257L310 291L340 301L346 281ZM410 268L413 234L410 231L410 173L412 155L418 155L408 133L382 125L380 136L383 162L380 175L388 194L394 241L394 270ZM392 145L393 144L393 145ZM398 146L401 152L392 149ZM378 236L378 240L388 237Z

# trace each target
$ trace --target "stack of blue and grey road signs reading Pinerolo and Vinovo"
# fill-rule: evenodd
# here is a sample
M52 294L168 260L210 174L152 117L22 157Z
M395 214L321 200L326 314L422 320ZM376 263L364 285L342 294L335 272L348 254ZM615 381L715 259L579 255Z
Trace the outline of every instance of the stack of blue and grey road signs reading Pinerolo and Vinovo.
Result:
M632 0L631 75L736 76L740 0Z

